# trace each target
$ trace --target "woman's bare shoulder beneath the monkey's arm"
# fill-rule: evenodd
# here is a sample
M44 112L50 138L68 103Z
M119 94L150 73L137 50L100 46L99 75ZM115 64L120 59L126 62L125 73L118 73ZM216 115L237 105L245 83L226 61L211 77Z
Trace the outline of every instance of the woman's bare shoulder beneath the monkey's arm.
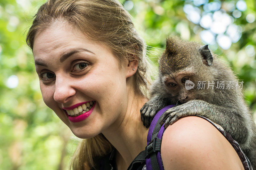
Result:
M165 169L244 169L228 140L197 116L181 118L167 127L161 156Z

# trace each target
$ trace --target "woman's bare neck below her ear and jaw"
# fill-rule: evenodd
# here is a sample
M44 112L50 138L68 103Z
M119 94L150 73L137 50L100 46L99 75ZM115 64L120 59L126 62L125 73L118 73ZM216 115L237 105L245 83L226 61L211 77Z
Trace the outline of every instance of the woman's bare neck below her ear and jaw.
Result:
M147 101L146 97L129 94L126 113L121 113L120 119L102 132L116 148L116 164L121 169L128 168L132 160L147 146L148 128L143 126L140 118L140 108Z

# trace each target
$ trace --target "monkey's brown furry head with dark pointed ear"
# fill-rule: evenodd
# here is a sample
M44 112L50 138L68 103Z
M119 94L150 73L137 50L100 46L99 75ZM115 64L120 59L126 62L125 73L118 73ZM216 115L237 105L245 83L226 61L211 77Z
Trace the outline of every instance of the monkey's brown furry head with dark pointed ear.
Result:
M172 96L172 102L211 99L214 87L209 88L208 81L214 81L213 60L208 45L178 37L167 38L166 49L159 60L159 72L164 90Z

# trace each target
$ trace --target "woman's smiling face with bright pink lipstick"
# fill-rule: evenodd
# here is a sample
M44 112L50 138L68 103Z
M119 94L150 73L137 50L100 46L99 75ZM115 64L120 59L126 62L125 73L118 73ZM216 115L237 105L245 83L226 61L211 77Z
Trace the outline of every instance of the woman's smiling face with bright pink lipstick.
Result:
M96 136L124 117L127 65L121 69L110 49L58 22L36 34L33 55L45 104L77 137Z

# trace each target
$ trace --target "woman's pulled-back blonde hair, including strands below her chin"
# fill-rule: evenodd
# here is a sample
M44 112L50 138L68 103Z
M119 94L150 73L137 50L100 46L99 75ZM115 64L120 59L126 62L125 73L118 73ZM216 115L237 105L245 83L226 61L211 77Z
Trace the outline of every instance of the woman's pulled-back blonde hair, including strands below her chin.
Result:
M146 44L136 32L130 14L117 0L49 0L37 11L28 30L27 44L33 50L36 33L48 28L56 19L63 19L78 28L88 38L110 48L119 63L137 60L134 91L148 96L148 60ZM113 146L99 134L83 139L73 156L73 169L87 169L95 165L94 159L106 155Z

